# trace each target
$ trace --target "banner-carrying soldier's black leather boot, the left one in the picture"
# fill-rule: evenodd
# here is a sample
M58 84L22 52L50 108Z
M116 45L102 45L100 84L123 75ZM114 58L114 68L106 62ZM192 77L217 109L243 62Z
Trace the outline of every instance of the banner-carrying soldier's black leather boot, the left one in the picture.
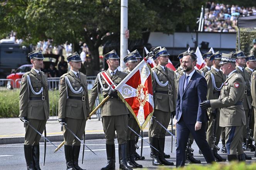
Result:
M101 168L101 170L115 170L115 163L116 163L116 152L115 152L115 145L106 144L106 151L107 151L107 159L108 163L106 167Z

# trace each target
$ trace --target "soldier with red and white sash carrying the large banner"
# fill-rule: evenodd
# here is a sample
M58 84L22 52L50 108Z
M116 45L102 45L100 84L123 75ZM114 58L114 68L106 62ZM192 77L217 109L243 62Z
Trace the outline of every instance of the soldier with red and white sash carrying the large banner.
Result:
M126 73L117 70L119 65L119 57L115 50L105 55L107 60L108 70L101 73L106 73L113 83L119 84L125 77ZM112 87L109 87L107 82L101 76L101 73L97 75L91 94L89 96L89 105L91 110L93 109L95 100L98 96L99 91L102 88L103 97L109 98L101 108L103 130L106 138L106 152L108 163L106 167L101 170L115 169L115 131L117 133L118 140L118 152L119 152L119 164L120 169L131 170L127 166L126 162L126 145L127 145L127 129L128 129L128 108L125 103L118 97L117 92L113 91ZM111 84L110 84L111 85Z

